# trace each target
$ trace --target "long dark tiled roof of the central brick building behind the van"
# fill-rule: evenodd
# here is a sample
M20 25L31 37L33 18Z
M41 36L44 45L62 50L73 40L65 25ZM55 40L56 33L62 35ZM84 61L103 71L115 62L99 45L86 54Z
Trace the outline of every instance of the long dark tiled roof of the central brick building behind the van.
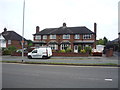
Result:
M94 34L87 27L60 27L60 28L47 28L34 35L49 35L49 34Z

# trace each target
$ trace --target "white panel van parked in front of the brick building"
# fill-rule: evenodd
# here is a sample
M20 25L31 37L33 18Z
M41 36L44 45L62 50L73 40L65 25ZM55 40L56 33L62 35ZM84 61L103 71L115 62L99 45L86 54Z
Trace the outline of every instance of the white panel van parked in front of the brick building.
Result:
M28 53L28 58L50 58L52 56L51 47L39 47Z

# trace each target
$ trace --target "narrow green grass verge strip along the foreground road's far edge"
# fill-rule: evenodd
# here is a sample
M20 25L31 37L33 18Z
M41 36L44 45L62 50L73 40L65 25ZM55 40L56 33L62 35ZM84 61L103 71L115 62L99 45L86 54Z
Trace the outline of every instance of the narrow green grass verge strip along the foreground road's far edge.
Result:
M120 67L119 64L114 63L100 63L100 64L87 64L87 63L59 63L59 62L20 62L20 61L1 61L3 63L20 63L20 64L48 64L48 65L74 65L74 66L115 66Z

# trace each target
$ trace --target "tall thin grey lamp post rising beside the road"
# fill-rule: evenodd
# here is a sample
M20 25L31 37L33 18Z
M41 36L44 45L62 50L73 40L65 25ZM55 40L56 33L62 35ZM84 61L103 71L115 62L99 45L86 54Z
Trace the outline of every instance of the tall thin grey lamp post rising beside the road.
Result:
M24 57L24 17L25 17L25 0L23 2L23 26L22 26L22 62Z

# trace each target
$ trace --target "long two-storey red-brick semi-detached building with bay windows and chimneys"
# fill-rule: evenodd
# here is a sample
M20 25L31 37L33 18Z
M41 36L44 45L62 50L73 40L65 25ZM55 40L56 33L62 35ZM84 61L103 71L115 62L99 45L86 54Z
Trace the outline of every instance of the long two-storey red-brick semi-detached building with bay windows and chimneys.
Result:
M36 27L36 33L33 34L33 44L36 47L50 46L53 50L63 50L67 47L74 52L78 52L78 46L96 47L96 27L94 23L94 32L85 26L81 27L67 27L63 23L59 28L46 28L40 31L39 26Z

